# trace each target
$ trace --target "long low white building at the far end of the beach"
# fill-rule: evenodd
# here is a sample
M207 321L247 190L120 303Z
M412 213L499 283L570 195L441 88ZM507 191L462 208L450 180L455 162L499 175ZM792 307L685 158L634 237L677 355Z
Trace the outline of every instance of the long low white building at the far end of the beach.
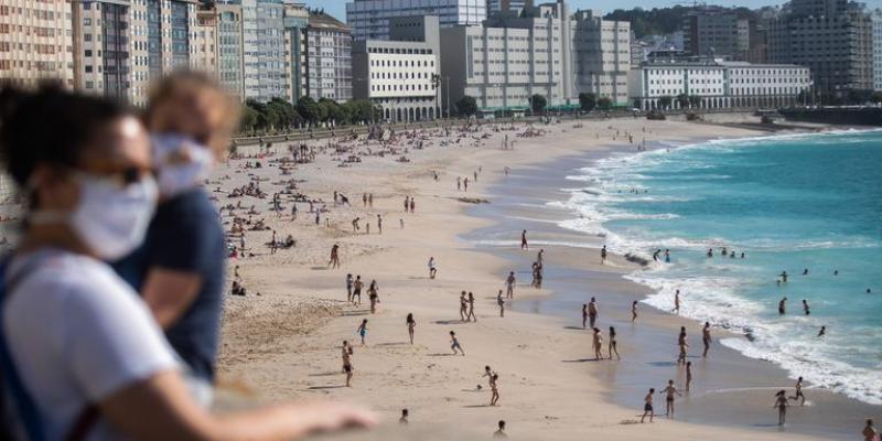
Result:
M811 87L808 67L789 64L678 61L643 63L631 71L634 107L660 109L669 97L670 108L687 107L678 97L695 97L688 107L779 107L797 104Z

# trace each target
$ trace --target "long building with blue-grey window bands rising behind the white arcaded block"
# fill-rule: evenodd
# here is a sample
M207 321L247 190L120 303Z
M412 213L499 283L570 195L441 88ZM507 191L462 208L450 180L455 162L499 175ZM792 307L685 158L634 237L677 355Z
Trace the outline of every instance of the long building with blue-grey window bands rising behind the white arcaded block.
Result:
M478 25L487 18L487 0L354 0L346 3L346 23L355 40L388 40L394 17L438 15L441 28Z

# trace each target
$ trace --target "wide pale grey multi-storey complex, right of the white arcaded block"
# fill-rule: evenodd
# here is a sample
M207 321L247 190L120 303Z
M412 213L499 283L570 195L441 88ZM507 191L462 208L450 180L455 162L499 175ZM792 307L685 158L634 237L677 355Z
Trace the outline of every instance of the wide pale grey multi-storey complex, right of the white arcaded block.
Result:
M578 109L581 93L626 106L630 33L628 23L590 11L571 15L562 0L527 4L520 17L442 29L441 76L451 104L467 95L482 112L527 110L533 95L542 95L549 110Z

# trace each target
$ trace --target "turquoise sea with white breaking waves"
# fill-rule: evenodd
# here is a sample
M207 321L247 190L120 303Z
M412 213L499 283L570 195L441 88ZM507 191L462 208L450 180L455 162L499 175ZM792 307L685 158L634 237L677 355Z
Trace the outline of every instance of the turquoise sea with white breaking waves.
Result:
M669 311L679 289L680 314L747 336L722 344L882 404L882 131L632 152L568 180L559 205L577 217L561 226L603 235L621 254L662 249L660 261L628 276L656 290L646 303Z

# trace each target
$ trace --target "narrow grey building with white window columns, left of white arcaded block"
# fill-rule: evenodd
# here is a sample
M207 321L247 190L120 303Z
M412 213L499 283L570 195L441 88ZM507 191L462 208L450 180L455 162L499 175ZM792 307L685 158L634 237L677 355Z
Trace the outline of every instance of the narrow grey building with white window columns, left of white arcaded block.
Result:
M352 99L352 33L325 13L311 13L304 32L303 95L344 103Z

